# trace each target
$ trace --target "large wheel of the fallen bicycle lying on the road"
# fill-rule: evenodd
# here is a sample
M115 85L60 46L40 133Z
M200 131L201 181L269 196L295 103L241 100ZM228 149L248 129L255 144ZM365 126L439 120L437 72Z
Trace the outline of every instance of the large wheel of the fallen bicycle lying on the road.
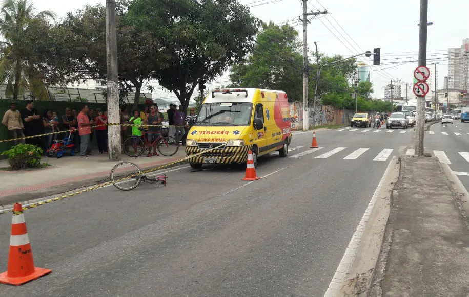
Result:
M114 187L119 190L129 191L140 185L141 179L128 177L132 175L141 176L141 169L132 162L117 163L111 170L111 181Z

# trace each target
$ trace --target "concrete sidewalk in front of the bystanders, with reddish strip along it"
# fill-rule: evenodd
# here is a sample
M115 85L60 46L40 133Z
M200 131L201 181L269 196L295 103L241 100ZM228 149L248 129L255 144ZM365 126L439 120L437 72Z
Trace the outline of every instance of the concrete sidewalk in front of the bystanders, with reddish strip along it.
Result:
M180 146L177 153L171 157L162 155L146 157L145 154L139 157L129 157L123 154L122 161L133 162L145 170L182 159L186 156L185 149L185 146ZM94 154L89 157L76 155L62 158L43 157L42 162L52 166L24 171L0 170L2 183L0 206L108 181L112 167L118 163L109 161L108 155L105 154ZM6 167L9 167L7 160L0 160L0 168Z

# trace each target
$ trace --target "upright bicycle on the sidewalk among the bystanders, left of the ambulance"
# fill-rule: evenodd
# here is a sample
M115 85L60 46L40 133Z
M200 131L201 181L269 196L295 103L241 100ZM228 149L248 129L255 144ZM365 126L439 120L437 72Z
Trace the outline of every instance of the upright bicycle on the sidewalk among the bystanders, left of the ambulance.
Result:
M147 140L147 134L156 133L158 137L153 141ZM158 152L166 157L177 153L179 143L172 136L163 136L161 132L142 131L142 136L131 136L124 142L124 153L129 157L138 157L156 145Z

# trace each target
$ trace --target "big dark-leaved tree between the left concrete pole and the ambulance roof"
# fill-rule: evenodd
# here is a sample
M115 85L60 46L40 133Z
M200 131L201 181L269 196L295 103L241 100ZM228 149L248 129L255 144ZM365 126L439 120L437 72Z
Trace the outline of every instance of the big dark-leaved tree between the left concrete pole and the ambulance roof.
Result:
M134 0L129 16L169 55L152 77L186 110L199 81L212 81L252 49L258 20L236 0Z

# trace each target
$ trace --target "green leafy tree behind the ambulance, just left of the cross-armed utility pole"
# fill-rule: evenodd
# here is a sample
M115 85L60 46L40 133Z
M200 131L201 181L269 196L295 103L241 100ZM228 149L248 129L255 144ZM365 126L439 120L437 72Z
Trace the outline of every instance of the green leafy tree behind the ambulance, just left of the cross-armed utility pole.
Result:
M298 32L289 25L262 24L253 53L231 69L232 86L284 90L302 100L302 56Z

